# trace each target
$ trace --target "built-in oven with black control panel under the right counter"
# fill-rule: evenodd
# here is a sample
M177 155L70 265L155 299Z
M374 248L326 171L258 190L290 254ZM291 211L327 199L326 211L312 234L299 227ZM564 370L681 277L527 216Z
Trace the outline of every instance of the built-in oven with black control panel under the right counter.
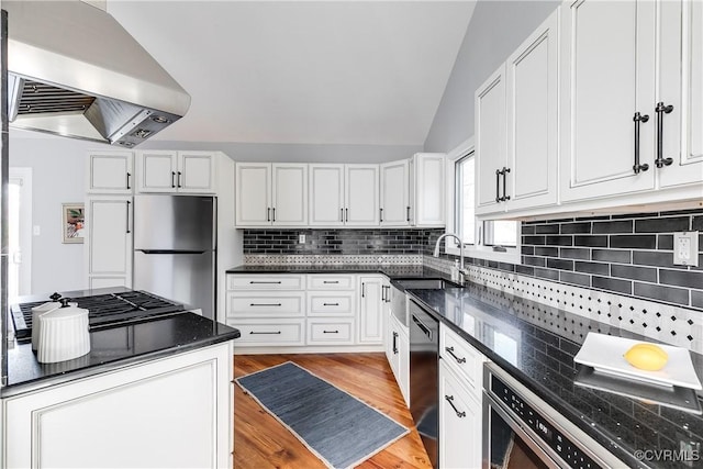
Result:
M495 364L483 372L483 469L624 467Z

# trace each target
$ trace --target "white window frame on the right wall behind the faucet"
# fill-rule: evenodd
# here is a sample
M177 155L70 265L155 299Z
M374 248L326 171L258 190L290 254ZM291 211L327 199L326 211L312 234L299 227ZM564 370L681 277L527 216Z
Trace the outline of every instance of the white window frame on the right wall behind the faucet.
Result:
M446 181L447 181L447 192L446 192L446 206L447 206L447 225L445 227L445 233L456 233L457 226L456 226L456 213L457 213L457 193L456 193L456 180L457 180L457 176L456 176L456 163L468 156L469 154L473 154L473 158L477 157L476 155L476 145L475 145L475 139L473 137L470 137L468 139L466 139L464 143L461 143L460 145L458 145L456 148L454 148L453 150L450 150L449 153L447 153L447 174L446 174ZM475 185L476 187L476 185ZM479 230L482 227L483 222L488 221L487 219L482 219L477 216L476 214L473 215L476 219L476 224L475 224L475 235L473 238L476 239L476 244L465 244L464 245L464 257L473 257L477 259L484 259L484 260L494 260L494 261L499 261L499 263L507 263L507 264L514 264L514 265L520 265L521 264L521 223L520 221L516 221L517 226L515 227L515 230L517 230L517 245L515 247L505 247L505 252L498 252L498 250L493 250L492 246L486 246L483 245L483 239L482 237L479 237ZM460 250L459 250L459 244L454 239L454 238L448 238L446 237L445 239L445 253L447 254L451 254L454 256L458 256Z

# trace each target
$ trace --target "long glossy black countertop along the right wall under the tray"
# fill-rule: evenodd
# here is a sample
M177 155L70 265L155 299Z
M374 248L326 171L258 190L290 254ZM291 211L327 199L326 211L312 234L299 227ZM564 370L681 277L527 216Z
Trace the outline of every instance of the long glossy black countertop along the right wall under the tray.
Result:
M703 467L703 416L574 382L581 366L573 357L590 331L652 339L477 284L411 290L411 294L629 467ZM501 347L504 340L495 340L495 333L512 338L516 350ZM691 353L691 357L699 379L703 378L703 356ZM681 442L699 448L698 460L685 465L635 457L637 450L679 451Z

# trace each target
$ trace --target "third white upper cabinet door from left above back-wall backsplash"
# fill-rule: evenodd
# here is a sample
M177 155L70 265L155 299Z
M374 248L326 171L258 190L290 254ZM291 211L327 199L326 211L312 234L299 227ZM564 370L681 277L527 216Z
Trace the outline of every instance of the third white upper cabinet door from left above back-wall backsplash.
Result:
M344 224L344 165L310 165L310 224Z

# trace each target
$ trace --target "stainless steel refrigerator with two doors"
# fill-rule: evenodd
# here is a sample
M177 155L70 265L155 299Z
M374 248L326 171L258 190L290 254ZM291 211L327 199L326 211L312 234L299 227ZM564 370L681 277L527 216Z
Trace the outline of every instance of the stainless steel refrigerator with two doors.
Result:
M145 290L215 320L216 199L134 197L135 290Z

